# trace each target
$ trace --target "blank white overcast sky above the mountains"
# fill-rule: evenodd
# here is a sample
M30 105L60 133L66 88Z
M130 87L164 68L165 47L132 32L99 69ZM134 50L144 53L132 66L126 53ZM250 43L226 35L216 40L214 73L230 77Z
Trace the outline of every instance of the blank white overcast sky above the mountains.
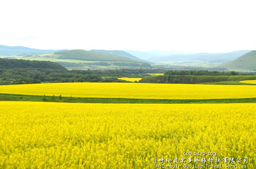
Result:
M2 0L0 44L39 49L256 49L253 0Z

